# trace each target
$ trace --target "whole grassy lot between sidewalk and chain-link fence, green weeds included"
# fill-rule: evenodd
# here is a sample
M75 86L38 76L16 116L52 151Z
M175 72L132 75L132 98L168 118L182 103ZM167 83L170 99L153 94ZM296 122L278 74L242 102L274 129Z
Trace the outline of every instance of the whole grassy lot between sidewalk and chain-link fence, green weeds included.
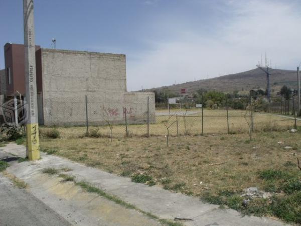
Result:
M76 128L79 129L79 128ZM73 128L61 128L62 138L41 138L41 149L135 182L200 196L243 213L275 215L301 223L300 133L171 137L78 138ZM72 134L73 136L67 136ZM301 156L300 156L301 157ZM243 205L248 187L273 194Z

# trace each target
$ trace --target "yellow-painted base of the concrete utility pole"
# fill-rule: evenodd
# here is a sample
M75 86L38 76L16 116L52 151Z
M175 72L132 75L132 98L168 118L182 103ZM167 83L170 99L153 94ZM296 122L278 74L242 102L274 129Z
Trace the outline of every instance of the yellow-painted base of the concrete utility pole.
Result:
M27 148L29 160L40 159L39 125L27 124Z

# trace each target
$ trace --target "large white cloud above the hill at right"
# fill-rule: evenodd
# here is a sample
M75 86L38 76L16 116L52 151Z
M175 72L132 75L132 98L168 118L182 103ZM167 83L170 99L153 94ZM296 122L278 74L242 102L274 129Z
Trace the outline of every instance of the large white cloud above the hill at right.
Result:
M260 60L260 53L264 55L265 51L277 68L292 69L301 61L301 30L298 29L301 15L293 3L235 0L225 3L226 6L219 5L216 9L230 16L212 25L214 33L179 23L181 27L173 27L169 41L166 38L147 40L152 50L132 53L136 54L134 58L129 55L128 90L253 69ZM157 23L154 26L165 29Z

